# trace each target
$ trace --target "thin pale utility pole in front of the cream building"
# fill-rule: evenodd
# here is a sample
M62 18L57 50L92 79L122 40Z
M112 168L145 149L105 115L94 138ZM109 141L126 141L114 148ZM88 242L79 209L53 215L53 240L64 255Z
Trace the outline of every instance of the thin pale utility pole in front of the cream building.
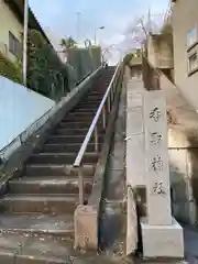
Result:
M24 0L24 24L23 24L23 84L24 86L26 86L28 30L29 30L29 0Z

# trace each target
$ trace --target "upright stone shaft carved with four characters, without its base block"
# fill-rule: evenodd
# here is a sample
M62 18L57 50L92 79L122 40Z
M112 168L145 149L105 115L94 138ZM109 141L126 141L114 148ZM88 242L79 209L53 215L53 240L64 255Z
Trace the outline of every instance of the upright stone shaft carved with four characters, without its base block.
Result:
M144 95L144 128L148 224L172 224L166 102L161 91Z

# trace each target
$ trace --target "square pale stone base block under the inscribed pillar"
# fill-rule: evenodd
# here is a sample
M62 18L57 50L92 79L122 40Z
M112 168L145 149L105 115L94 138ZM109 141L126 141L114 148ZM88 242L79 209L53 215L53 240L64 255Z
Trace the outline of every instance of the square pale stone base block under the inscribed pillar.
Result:
M172 226L150 226L147 218L142 218L141 229L143 257L184 258L183 228L174 218Z

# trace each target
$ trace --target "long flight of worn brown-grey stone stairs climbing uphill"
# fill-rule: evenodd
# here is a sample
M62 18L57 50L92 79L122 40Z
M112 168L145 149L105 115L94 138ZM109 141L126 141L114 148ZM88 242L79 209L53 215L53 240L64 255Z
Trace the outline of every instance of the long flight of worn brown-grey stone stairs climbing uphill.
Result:
M0 200L0 263L72 263L74 211L79 204L76 155L114 68L103 69L91 89L34 150L20 177L8 183ZM99 121L99 150L105 135ZM99 154L91 139L84 157L85 202Z

